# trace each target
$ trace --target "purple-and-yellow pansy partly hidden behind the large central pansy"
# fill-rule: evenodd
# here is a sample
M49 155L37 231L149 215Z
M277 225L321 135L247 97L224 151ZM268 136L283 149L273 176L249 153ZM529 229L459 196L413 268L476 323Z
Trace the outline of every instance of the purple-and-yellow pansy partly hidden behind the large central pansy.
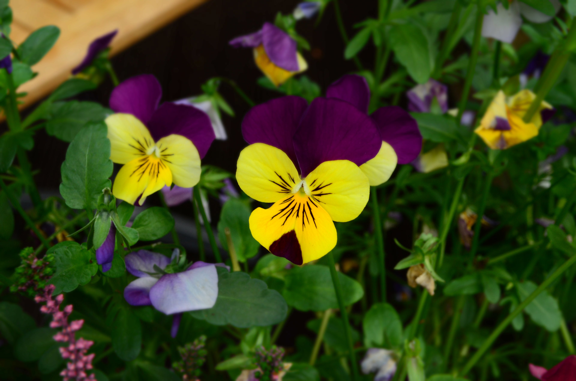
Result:
M337 98L355 106L367 114L370 104L370 88L360 75L344 75L326 90L327 98ZM396 164L408 164L422 149L422 135L418 124L398 106L381 107L370 115L380 133L381 147L376 157L360 166L370 185L387 181ZM358 142L361 143L361 142Z

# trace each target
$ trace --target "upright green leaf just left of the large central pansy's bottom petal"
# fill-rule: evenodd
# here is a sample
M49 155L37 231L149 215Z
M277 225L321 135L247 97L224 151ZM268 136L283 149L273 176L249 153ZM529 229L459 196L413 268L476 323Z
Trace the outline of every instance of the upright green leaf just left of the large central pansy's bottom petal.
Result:
M230 197L222 207L220 213L220 220L218 221L218 237L223 246L228 250L228 239L224 230L226 227L230 229L230 236L238 261L245 262L248 258L252 258L258 253L260 243L252 237L248 219L250 218L251 210L245 203L238 199Z

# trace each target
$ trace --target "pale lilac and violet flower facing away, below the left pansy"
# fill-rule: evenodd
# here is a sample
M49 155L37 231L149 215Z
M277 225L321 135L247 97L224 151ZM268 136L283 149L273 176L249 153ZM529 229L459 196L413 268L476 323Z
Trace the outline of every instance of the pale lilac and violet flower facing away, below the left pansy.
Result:
M124 257L126 269L138 279L124 288L124 299L132 306L153 306L166 315L204 310L216 303L218 273L215 264L198 261L183 272L174 271L178 250L170 258L139 250ZM176 336L181 315L175 315L172 336Z

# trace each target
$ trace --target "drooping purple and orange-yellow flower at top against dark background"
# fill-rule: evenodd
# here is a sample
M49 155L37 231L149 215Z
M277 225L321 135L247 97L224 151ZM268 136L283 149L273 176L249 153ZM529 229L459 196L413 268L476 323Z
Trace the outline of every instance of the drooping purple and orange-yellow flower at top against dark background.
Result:
M270 22L262 29L230 41L234 48L253 48L256 66L274 83L282 85L294 74L302 73L308 63L300 55L296 41Z

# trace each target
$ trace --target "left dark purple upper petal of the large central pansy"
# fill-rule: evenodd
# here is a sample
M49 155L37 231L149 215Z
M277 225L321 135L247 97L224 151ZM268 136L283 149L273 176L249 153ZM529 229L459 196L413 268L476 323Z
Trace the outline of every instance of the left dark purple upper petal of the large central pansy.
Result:
M281 149L298 166L292 139L306 108L308 102L295 96L257 105L242 120L242 136L248 144L264 143Z

